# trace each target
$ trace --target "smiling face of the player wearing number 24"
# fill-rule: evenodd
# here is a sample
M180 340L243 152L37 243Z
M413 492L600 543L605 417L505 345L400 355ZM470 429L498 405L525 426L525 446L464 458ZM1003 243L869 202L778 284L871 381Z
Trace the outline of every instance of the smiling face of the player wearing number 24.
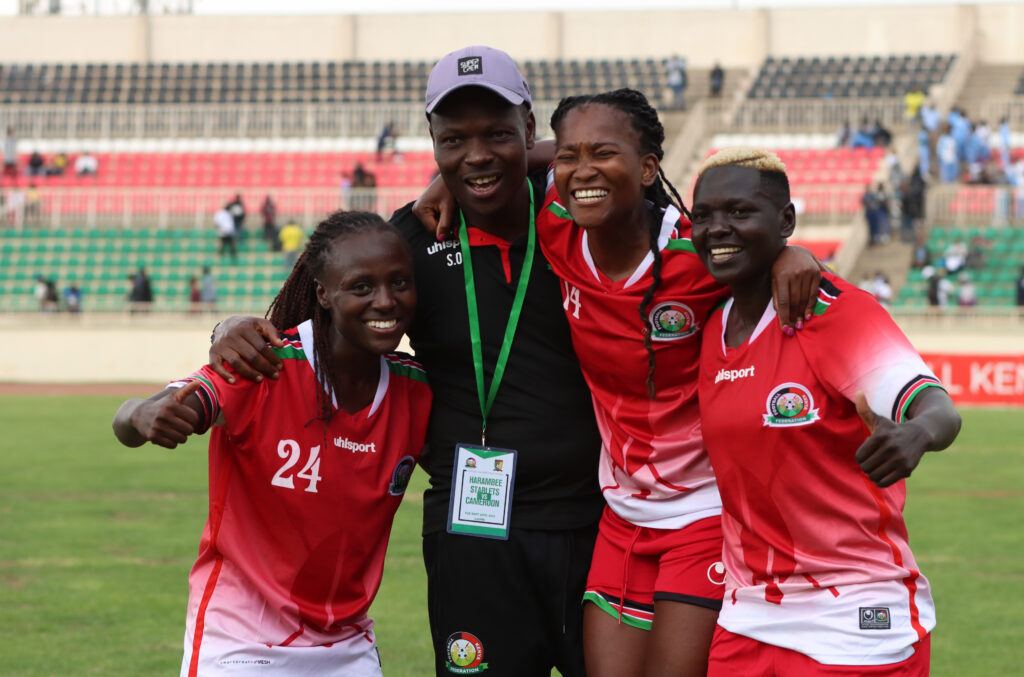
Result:
M384 229L336 239L316 282L316 300L331 314L335 355L393 351L416 310L409 246Z

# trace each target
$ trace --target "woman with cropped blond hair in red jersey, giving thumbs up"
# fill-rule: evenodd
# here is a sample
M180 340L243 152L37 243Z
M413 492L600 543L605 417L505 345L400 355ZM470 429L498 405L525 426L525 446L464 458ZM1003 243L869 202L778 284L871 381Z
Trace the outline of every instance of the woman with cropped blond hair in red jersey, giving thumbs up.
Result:
M778 158L707 160L692 220L731 295L700 357L726 567L709 675L927 675L935 609L902 479L955 438L949 395L885 309L836 276L815 319L782 336L771 266L796 215Z

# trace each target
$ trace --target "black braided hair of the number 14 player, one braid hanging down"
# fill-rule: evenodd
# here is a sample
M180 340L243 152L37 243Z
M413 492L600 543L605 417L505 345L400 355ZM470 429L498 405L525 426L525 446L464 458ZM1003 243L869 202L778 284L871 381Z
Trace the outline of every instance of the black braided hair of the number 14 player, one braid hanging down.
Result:
M647 97L635 89L615 89L613 91L601 92L600 94L588 94L583 96L566 96L558 103L558 108L551 116L551 128L558 133L558 128L568 115L569 111L591 103L600 103L622 111L629 116L633 129L637 132L640 141L640 152L642 155L653 155L657 158L657 177L654 182L647 186L644 198L652 203L659 210L670 205L676 207L687 218L689 211L683 205L683 199L679 196L676 186L669 181L662 168L662 159L665 151L662 144L665 142L665 127L657 118L657 111L647 101ZM640 313L640 321L643 323L643 344L647 350L647 395L654 398L654 348L651 345L651 332L648 306L654 298L654 292L662 285L662 251L657 246L657 239L662 232L662 223L658 218L651 218L649 225L650 251L654 256L654 263L651 265L651 284L637 307Z

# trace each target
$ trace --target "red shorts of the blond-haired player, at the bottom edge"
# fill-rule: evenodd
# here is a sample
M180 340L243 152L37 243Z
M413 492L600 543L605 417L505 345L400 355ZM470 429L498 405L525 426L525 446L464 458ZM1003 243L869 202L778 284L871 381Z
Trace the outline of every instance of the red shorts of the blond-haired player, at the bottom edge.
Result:
M913 644L913 655L884 666L830 666L818 663L800 651L731 633L722 626L715 628L708 661L708 677L928 677L932 663L932 636Z

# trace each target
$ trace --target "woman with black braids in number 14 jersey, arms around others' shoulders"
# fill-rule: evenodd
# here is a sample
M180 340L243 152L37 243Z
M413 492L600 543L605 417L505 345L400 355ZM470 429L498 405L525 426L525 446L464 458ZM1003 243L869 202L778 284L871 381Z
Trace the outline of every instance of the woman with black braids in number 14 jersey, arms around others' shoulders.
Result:
M696 383L700 330L726 289L694 253L682 200L660 168L665 130L642 93L562 99L551 126L538 240L562 280L593 393L607 503L585 595L587 673L703 675L725 572ZM434 187L418 210L425 223L451 214ZM775 272L776 282L796 280L793 300L806 309L814 257L784 250Z

